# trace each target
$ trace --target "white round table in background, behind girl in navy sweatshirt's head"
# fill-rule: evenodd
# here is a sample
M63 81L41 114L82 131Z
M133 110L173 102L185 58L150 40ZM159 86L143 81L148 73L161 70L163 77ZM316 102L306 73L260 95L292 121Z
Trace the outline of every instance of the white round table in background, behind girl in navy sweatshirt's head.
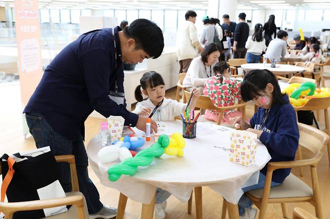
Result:
M248 63L248 64L242 64L241 67L244 70L268 69L274 74L278 74L278 75L293 74L296 72L302 72L304 70L303 67L294 66L290 64L277 64L277 63L276 63L276 67L270 67L269 63L267 63L266 65L264 65L264 63Z

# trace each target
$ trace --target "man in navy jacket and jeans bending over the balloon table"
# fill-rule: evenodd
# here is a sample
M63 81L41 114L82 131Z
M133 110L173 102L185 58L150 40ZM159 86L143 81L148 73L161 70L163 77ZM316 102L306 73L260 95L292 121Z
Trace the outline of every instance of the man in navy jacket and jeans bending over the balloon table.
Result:
M147 19L137 19L124 30L97 29L67 45L47 66L24 109L37 147L50 146L54 155L75 155L79 189L86 198L90 218L112 218L116 209L103 205L88 176L84 122L96 110L104 117L120 115L124 124L145 130L146 118L117 104L109 91L124 92L123 62L157 58L164 47L161 29ZM157 131L152 121L151 128ZM68 165L59 164L60 182L71 190Z

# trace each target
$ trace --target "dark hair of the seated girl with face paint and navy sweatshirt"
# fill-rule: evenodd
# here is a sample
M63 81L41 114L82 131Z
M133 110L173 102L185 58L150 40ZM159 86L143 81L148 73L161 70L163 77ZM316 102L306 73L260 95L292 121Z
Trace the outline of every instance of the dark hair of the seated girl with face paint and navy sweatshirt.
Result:
M266 89L268 83L271 83L274 87L272 104L286 104L287 102L283 99L286 94L281 92L276 76L267 69L253 69L244 75L241 83L242 99L247 102L257 96L262 96L261 92Z

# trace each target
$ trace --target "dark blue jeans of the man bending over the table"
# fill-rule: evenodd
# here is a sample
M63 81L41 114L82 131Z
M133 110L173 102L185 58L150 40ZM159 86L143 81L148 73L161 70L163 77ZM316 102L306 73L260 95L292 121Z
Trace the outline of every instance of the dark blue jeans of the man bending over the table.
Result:
M93 214L100 211L103 204L97 188L88 176L88 155L82 135L79 133L73 139L62 136L48 124L40 113L26 113L26 120L38 148L50 146L54 155L73 154L75 156L79 190L86 198L88 212ZM58 163L58 167L59 181L64 191L72 191L69 164Z

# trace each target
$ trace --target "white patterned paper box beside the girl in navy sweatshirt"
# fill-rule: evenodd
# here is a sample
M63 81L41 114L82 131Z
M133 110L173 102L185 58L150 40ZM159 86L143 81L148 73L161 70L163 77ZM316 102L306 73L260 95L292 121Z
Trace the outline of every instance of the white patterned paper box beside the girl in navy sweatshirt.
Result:
M255 163L257 135L248 131L235 131L230 135L229 160L245 166Z

